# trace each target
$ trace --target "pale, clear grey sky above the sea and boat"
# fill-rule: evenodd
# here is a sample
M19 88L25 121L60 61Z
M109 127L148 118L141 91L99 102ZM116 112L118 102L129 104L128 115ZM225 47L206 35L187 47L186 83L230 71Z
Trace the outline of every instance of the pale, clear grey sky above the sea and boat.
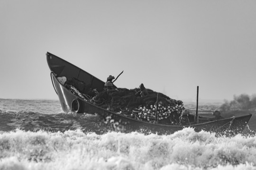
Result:
M173 99L256 93L256 0L0 0L0 98L58 99L46 52Z

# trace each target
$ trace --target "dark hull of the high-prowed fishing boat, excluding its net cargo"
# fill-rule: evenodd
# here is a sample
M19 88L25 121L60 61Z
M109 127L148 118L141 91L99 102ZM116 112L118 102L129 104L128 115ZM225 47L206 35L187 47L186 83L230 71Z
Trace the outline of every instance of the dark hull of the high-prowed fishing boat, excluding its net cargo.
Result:
M197 114L189 114L190 125L173 125L157 121L149 122L134 119L86 100L80 93L74 93L67 88L58 77L66 77L77 82L84 82L91 89L97 89L98 92L104 91L104 81L50 52L46 53L46 59L51 71L52 84L58 95L62 110L64 112L97 114L102 121L102 127L108 127L111 130L125 133L137 131L145 134L157 133L159 135L168 135L185 127L192 127L197 132L204 130L218 134L228 133L228 135L235 135L243 132L252 116L252 114L247 114L226 119L210 119L198 116Z

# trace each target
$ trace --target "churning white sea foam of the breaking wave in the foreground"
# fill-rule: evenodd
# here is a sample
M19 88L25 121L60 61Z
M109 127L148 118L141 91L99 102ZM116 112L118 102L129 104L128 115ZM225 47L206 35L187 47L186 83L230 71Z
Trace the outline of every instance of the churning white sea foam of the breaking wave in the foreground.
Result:
M185 128L168 136L0 133L0 170L256 170L256 137Z

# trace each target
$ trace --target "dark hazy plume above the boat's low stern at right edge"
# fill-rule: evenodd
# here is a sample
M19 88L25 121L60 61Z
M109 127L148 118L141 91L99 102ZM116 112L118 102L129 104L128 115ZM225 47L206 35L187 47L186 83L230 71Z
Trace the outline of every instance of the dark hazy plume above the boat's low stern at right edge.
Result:
M231 102L225 100L219 109L222 111L256 109L256 94L251 96L248 94L234 95L234 100Z

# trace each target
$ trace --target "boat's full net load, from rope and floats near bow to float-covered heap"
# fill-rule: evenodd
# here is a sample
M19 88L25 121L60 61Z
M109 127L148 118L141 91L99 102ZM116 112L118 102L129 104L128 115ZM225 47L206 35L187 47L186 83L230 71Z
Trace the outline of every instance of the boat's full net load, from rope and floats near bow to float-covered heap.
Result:
M74 79L67 81L65 86L88 102L133 119L148 122L156 120L159 123L174 125L182 124L183 121L183 102L151 89L144 88L142 91L141 88L113 88L98 93L89 85Z

